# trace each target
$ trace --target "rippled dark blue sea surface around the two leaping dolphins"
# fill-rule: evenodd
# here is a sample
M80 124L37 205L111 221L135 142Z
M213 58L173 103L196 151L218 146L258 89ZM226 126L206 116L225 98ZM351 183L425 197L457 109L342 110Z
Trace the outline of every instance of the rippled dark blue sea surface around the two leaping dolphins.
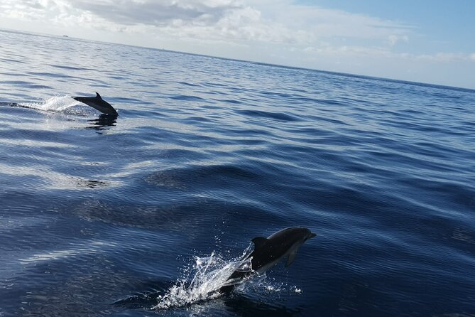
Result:
M0 43L0 316L475 314L475 91ZM158 307L289 226L288 269Z

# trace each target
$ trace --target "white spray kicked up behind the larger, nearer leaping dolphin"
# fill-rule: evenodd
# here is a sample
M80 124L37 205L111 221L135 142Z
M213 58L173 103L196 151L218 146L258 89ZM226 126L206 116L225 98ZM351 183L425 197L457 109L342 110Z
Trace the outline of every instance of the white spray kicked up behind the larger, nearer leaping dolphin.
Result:
M251 259L246 259L246 254L249 254L250 249L251 246L244 250L240 259L231 261L226 261L214 252L209 257L196 257L192 268L185 269L185 274L188 276L170 287L164 295L158 296L158 304L152 309L182 307L216 299L222 296L222 292L219 291L222 286L236 285L243 289L247 279L241 281L229 281L228 279L236 269L252 272ZM193 272L194 274L192 274ZM192 276L191 281L189 281L190 276Z

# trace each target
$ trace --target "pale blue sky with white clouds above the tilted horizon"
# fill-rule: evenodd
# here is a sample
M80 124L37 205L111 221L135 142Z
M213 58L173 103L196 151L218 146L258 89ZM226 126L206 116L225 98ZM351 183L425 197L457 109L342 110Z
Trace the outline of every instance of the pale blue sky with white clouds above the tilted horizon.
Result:
M475 89L474 13L472 0L0 0L0 28Z

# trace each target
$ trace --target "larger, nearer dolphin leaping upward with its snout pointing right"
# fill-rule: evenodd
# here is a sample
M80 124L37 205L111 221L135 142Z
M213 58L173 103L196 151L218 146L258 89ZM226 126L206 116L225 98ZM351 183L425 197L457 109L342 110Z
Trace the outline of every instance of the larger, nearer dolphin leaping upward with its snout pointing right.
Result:
M219 291L227 292L238 284L250 279L254 274L263 274L278 262L287 258L285 267L295 260L298 248L316 234L304 227L288 227L269 237L255 237L251 240L254 249L244 256L241 265L229 276Z

